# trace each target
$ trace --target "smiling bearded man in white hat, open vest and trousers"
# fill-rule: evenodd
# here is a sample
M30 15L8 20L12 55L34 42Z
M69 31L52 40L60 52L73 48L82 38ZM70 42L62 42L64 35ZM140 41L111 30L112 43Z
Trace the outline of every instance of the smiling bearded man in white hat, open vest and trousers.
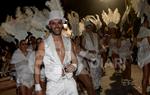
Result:
M35 91L42 95L40 86L40 66L45 66L47 78L46 95L78 95L76 82L72 77L77 67L77 59L70 38L64 37L63 15L52 10L48 27L50 35L39 44L35 60Z

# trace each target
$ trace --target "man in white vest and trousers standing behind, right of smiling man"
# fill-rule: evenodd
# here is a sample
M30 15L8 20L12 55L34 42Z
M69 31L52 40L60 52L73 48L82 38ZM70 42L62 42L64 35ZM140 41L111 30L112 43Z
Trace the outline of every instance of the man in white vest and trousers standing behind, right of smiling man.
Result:
M101 78L100 38L94 31L96 31L96 26L91 21L86 21L85 32L81 38L81 48L87 52L84 57L88 60L85 60L84 66L89 69L94 89L99 93Z

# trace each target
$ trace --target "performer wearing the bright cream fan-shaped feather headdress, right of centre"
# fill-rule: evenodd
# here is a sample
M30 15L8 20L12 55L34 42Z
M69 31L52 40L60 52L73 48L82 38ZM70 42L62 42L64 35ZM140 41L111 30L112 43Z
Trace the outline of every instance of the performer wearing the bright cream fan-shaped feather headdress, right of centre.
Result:
M120 21L120 13L118 11L118 8L116 8L114 11L112 11L110 8L108 8L108 13L105 11L102 12L102 19L105 22L105 24L108 27L108 31L111 34L111 38L109 39L109 57L112 58L112 63L114 64L115 68L115 74L119 74L119 64L120 64L120 58L118 54L118 27L117 24Z

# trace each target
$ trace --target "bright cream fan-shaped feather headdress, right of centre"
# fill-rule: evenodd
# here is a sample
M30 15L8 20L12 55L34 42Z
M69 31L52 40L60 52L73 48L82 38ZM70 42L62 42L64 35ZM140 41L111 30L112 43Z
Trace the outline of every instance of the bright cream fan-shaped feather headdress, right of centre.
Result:
M112 11L110 8L108 8L108 13L106 13L104 10L102 12L102 19L105 22L105 24L107 26L109 26L109 24L114 23L114 24L118 24L120 21L120 13L118 11L118 8L116 8L114 11Z

